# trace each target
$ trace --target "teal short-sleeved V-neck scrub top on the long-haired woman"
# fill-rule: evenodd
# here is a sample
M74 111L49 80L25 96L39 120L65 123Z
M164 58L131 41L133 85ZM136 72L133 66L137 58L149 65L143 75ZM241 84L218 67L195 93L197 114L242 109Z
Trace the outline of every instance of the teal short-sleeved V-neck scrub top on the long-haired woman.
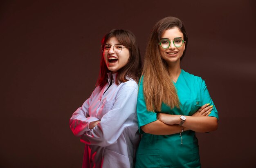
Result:
M202 105L210 103L213 110L209 116L218 119L218 111L201 77L181 70L177 82L174 83L180 99L180 108L171 109L162 104L161 113L191 116ZM157 113L146 110L143 94L143 77L139 84L137 100L137 117L139 132L142 135L136 154L135 168L200 168L198 139L195 132L187 130L172 135L152 135L144 133L141 126L157 120Z

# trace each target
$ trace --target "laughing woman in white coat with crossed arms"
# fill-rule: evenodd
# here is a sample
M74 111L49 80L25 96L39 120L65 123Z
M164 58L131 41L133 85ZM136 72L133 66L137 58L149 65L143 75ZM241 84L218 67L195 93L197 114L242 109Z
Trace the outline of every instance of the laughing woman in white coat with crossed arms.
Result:
M70 118L74 135L85 143L83 168L133 168L140 135L137 82L141 57L135 35L113 29L101 41L96 88Z

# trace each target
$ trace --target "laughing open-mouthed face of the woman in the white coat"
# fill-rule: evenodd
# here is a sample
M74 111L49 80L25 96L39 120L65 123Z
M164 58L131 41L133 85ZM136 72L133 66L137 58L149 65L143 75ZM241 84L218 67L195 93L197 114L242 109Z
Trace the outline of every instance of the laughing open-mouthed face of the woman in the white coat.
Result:
M109 38L106 44L109 44L111 47L108 53L103 53L105 63L108 67L108 70L112 71L112 73L116 73L119 69L121 69L128 63L128 60L130 57L129 49L123 48L120 53L118 54L115 53L114 47L113 47L114 45L126 47L121 45L116 37Z

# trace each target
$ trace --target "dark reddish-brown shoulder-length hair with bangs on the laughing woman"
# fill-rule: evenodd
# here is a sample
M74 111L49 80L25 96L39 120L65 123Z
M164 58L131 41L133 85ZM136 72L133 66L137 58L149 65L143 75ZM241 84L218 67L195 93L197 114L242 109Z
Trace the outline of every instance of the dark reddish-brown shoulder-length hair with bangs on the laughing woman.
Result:
M135 35L128 30L113 29L103 37L101 44L106 44L106 42L112 37L116 37L120 44L129 49L130 53L128 63L117 72L116 84L128 81L126 77L132 78L138 83L141 75L141 56ZM100 73L96 86L103 87L108 82L108 72L110 71L106 66L102 53Z

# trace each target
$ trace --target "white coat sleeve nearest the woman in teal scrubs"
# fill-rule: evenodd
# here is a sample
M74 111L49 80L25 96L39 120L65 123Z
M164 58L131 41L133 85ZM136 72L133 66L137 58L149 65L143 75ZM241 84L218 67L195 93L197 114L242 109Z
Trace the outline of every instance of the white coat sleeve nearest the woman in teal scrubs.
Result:
M103 115L101 122L92 130L81 136L81 142L89 145L109 146L115 144L124 129L135 126L137 87L122 88L115 99L114 105L108 113Z

